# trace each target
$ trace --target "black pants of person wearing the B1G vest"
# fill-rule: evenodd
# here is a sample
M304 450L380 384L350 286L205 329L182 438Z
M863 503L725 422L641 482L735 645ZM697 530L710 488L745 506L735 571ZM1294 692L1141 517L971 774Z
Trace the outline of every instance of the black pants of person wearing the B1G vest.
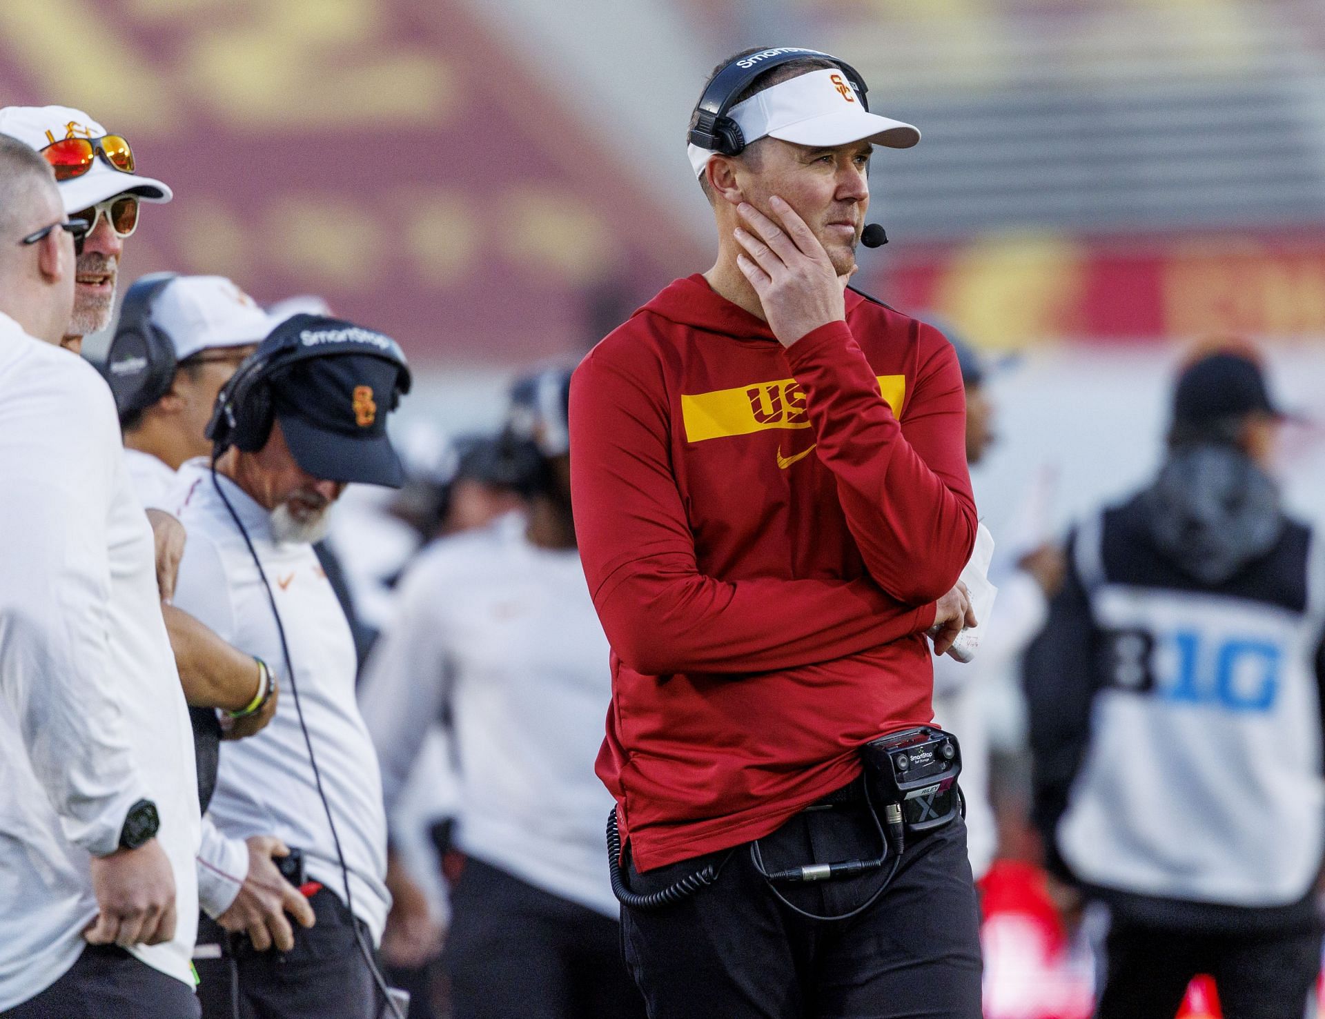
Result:
M1191 978L1208 973L1224 1019L1301 1019L1321 969L1318 929L1202 934L1114 924L1100 1019L1173 1019Z

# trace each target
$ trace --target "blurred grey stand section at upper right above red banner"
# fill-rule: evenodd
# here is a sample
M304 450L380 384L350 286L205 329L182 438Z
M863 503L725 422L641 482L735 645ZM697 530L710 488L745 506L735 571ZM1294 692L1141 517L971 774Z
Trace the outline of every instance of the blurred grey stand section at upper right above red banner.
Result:
M1318 4L934 7L860 5L829 29L876 91L931 126L881 182L898 232L1325 223Z

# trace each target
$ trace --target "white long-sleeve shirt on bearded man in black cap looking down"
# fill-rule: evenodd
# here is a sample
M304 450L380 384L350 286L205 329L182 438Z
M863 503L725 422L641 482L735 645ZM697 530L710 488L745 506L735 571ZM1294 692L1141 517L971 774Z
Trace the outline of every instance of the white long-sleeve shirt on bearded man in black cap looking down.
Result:
M294 684L253 557L217 494L207 461L191 460L162 505L188 531L175 604L233 647L262 659L281 686L276 717L266 729L221 749L208 816L224 837L203 847L200 867L233 873L244 839L274 835L302 849L309 877L344 901L335 841L299 727L297 688L350 872L352 908L374 941L380 941L391 905L384 884L387 824L378 757L354 698L358 661L350 625L313 546L276 542L268 511L224 476L217 484L272 584ZM233 859L227 861L225 853Z

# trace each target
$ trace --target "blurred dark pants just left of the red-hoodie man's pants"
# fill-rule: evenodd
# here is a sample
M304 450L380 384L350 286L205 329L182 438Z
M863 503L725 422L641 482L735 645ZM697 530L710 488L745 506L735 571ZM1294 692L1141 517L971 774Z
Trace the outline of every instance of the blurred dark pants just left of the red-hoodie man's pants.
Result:
M450 905L453 1019L644 1018L616 921L473 857Z

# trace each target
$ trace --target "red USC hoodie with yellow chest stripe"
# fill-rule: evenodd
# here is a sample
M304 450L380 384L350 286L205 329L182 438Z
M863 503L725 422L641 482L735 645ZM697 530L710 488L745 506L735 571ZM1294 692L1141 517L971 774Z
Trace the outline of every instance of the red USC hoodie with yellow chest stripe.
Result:
M847 292L783 350L677 280L575 371L571 492L612 645L598 774L636 867L767 835L933 717L975 541L957 355Z

